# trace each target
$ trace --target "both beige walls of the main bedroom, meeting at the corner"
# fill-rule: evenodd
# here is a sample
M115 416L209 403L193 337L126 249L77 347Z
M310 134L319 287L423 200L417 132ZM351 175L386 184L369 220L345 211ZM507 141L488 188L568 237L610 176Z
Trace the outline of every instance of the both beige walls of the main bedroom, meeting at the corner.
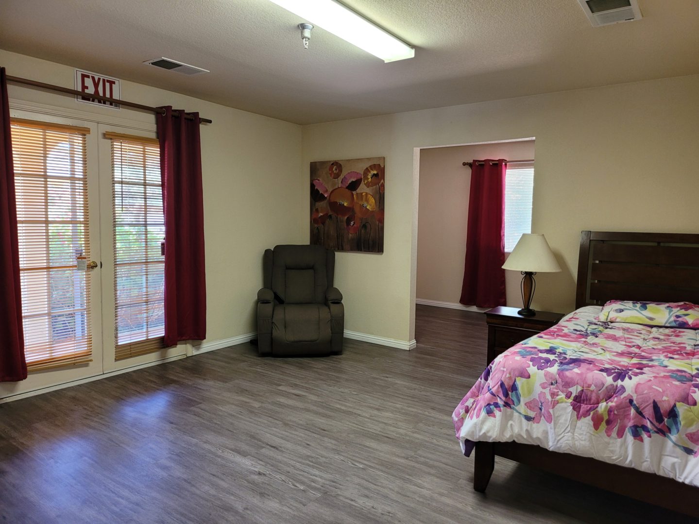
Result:
M73 85L71 66L4 51L0 64L10 75ZM15 85L10 97L115 115ZM384 254L339 253L336 283L348 330L396 340L413 338L415 148L536 137L533 230L545 233L563 266L540 275L539 309L572 310L582 229L696 232L699 222L699 75L303 128L133 82L123 82L122 97L215 121L202 129L208 340L254 330L265 247L308 242L308 205L298 202L308 199L310 161L386 157ZM153 122L147 113L119 115Z

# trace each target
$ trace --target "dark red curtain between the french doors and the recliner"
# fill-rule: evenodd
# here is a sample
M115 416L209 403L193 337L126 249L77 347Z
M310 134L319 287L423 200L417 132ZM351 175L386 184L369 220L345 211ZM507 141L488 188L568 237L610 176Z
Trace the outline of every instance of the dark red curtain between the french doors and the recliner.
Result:
M206 338L199 113L157 116L165 215L165 343Z

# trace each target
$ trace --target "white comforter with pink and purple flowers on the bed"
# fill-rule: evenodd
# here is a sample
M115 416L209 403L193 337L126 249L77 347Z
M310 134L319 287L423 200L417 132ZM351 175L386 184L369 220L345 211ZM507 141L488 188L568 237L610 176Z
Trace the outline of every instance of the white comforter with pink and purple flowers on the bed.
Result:
M454 410L461 449L537 444L699 486L699 330L583 307L498 356Z

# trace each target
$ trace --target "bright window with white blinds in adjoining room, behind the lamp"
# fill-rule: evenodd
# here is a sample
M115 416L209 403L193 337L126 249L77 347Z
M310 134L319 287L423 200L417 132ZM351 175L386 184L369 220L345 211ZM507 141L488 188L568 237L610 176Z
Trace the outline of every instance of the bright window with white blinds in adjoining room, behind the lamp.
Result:
M505 252L507 253L512 253L522 233L531 233L533 190L533 163L507 166L505 176Z

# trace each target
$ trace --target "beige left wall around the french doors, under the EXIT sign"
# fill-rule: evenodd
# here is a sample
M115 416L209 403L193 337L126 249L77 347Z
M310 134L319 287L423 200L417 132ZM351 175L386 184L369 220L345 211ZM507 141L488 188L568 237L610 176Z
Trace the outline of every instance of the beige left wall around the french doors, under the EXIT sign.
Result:
M0 65L6 67L8 75L66 87L73 87L73 66L80 67L80 64L64 66L3 50L0 50ZM206 81L206 76L191 80ZM154 129L152 113L100 108L78 103L72 96L14 84L8 89L10 106L29 101L57 108L57 112L80 110L96 119L118 117ZM278 243L307 241L308 184L302 180L298 168L301 127L126 80L122 80L122 98L145 105L198 110L201 116L213 120L213 124L201 126L206 341L254 332L264 249ZM65 374L52 372L51 377L57 378L45 382L65 381L61 378Z

